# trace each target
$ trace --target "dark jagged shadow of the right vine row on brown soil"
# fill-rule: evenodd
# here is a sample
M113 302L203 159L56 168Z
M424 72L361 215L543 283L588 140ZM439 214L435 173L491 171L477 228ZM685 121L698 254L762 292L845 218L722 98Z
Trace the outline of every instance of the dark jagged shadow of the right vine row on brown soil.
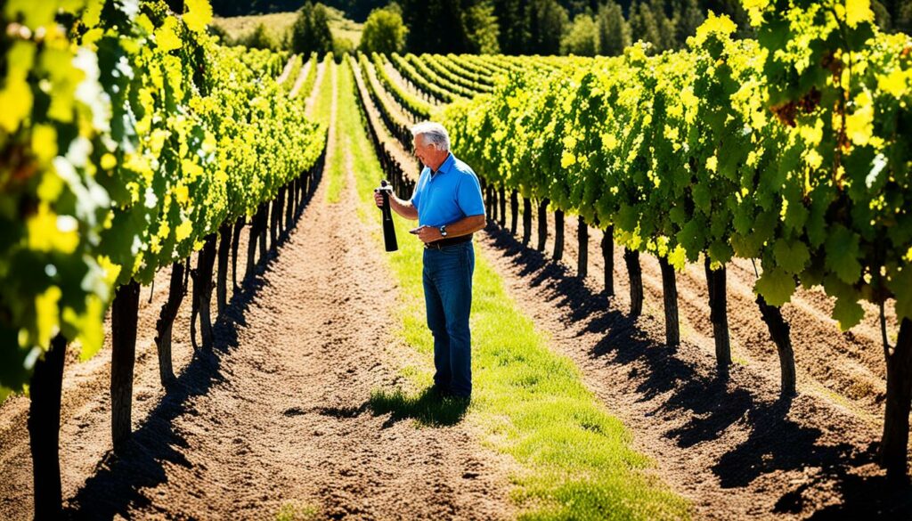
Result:
M660 323L650 323L646 317L631 320L604 291L587 286L566 266L524 246L508 230L489 222L485 231L516 272L531 287L543 289L544 298L559 308L567 327L579 328L580 335L602 335L590 346L589 356L608 366L629 368L627 391L634 392L637 401L656 401L649 414L675 420L677 426L668 427L664 436L682 448L728 443L714 452L720 454L716 461L694 462L710 467L722 488L747 487L762 475L810 468L814 472L806 481L786 482L775 492L781 497L773 512L806 514L821 499L826 503L835 499L837 505L817 510L814 518L862 514L865 519L912 518L912 490L890 489L882 476L859 475L872 474L875 445L862 446L857 436L855 443L821 442L820 424L831 432L845 432L841 439L852 440L855 433L813 404L808 407L809 397L771 400L777 392L775 384L745 368L734 367L730 375L723 375L715 369L712 356L696 346L669 348L660 340L664 339ZM793 407L803 408L790 416ZM747 438L722 442L721 434L735 423L738 429L748 430Z

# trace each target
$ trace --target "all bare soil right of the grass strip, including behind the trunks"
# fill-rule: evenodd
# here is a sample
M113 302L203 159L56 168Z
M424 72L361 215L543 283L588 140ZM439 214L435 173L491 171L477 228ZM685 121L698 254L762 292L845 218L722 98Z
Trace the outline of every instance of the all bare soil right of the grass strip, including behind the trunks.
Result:
M509 227L509 204L507 213ZM828 318L827 297L799 291L784 311L799 394L781 399L779 361L751 294L752 267L730 269L737 363L726 380L716 370L702 266L678 276L684 327L682 344L672 349L665 345L658 262L641 255L646 304L631 321L622 250L614 255L616 297L608 297L602 232L590 229L586 279L576 276L576 233L575 218L567 219L562 262L550 258L553 238L547 255L534 250L535 232L521 244L522 218L515 237L489 224L480 250L553 348L575 360L589 389L627 425L637 449L655 459L655 472L692 500L698 518L912 516L912 490L887 488L876 465L884 377L874 315L841 335ZM859 382L867 391L859 392Z

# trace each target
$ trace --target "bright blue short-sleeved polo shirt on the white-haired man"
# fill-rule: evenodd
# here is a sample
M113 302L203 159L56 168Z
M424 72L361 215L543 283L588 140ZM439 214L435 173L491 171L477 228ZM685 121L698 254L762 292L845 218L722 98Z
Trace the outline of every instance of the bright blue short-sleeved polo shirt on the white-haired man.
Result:
M484 214L478 176L452 152L437 172L424 167L411 194L411 203L418 209L419 225L442 226Z

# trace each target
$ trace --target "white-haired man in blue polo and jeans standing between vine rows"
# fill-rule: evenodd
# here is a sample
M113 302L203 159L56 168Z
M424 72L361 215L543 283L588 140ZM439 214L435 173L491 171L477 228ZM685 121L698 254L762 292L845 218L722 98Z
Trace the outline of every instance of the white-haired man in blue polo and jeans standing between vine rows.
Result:
M411 129L415 155L424 165L408 201L390 195L389 206L406 219L424 243L424 302L434 337L434 389L440 396L472 395L472 234L484 227L478 177L450 152L450 136L439 123ZM377 205L383 197L374 196Z

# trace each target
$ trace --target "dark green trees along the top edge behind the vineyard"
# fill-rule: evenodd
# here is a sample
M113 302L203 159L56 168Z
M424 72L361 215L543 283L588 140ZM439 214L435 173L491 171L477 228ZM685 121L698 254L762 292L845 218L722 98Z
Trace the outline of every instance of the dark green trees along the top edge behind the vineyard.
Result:
M631 43L642 41L650 54L658 54L686 47L687 38L710 11L729 16L738 26L736 36L753 36L741 0L325 2L308 1L301 6L300 0L213 0L212 5L222 16L297 9L295 26L283 41L271 41L265 27L258 26L237 43L308 53L352 50L346 42L333 40L326 6L364 21L359 45L364 52L615 56ZM871 7L877 24L886 32L912 32L912 3L871 0Z

